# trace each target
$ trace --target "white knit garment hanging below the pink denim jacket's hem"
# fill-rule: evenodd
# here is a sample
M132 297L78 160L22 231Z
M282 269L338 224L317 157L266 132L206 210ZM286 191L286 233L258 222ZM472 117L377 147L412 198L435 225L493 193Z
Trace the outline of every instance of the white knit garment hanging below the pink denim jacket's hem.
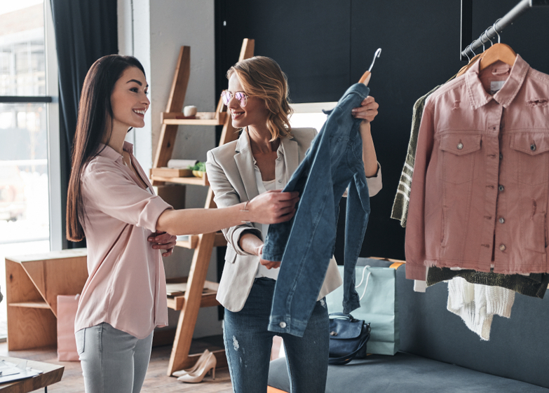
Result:
M482 340L490 339L494 315L509 318L515 292L500 287L470 284L461 277L448 282L447 310L459 315Z

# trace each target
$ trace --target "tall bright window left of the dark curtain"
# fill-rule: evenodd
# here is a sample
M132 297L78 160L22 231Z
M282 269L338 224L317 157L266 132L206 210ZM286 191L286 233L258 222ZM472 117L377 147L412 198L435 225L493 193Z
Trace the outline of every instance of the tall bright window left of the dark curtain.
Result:
M6 288L5 256L60 249L59 114L52 27L48 0L0 0L2 290ZM5 301L0 303L3 336Z

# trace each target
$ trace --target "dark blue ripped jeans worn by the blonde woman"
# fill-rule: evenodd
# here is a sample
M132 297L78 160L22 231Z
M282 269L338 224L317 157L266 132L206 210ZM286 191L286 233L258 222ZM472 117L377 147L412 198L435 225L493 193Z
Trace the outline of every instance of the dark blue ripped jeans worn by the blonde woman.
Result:
M244 308L225 309L223 336L235 393L266 393L273 336L267 330L276 281L256 278ZM325 299L316 302L303 337L284 340L292 393L324 392L328 371L329 320Z

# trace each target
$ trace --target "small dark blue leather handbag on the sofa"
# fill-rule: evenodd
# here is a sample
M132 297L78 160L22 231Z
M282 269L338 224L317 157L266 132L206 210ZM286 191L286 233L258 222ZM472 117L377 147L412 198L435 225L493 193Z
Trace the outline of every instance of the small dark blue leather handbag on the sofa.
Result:
M351 314L330 314L330 359L328 364L347 364L366 357L366 343L370 340L370 324L354 319Z

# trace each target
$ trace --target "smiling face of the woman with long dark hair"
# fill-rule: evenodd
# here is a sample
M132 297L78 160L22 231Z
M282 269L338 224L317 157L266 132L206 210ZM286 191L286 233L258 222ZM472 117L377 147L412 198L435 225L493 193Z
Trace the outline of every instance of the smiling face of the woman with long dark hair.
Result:
M128 67L118 78L111 94L113 130L145 125L145 112L151 102L147 98L149 85L143 72L137 67Z

